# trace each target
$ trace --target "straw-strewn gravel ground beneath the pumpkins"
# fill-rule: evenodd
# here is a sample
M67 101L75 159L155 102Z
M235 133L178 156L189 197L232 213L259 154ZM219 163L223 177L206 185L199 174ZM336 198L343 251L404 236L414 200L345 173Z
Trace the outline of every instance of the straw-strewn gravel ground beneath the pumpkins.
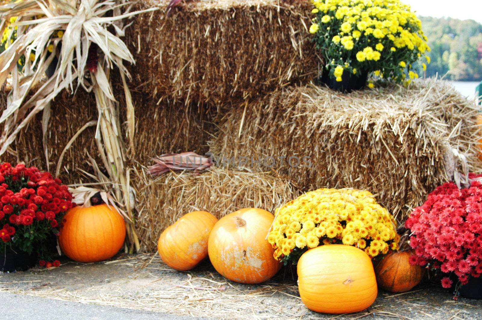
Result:
M0 292L213 319L482 319L482 300L454 301L429 282L405 294L380 290L360 313L326 315L301 303L289 269L269 282L243 285L221 277L209 262L179 272L147 255L1 274Z

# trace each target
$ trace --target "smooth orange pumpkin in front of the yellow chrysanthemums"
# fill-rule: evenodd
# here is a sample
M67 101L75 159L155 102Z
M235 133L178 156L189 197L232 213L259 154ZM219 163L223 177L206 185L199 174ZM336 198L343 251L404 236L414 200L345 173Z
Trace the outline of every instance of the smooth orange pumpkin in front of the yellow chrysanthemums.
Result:
M316 312L362 311L378 292L372 260L351 245L310 249L298 260L297 271L301 301Z

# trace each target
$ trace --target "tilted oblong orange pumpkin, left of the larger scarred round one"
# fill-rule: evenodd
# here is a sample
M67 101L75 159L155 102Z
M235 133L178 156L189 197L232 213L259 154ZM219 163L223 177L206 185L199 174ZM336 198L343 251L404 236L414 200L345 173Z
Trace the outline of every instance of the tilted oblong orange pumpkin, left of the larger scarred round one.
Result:
M194 268L208 255L208 238L217 218L207 211L189 212L162 232L157 248L162 261L176 270Z

